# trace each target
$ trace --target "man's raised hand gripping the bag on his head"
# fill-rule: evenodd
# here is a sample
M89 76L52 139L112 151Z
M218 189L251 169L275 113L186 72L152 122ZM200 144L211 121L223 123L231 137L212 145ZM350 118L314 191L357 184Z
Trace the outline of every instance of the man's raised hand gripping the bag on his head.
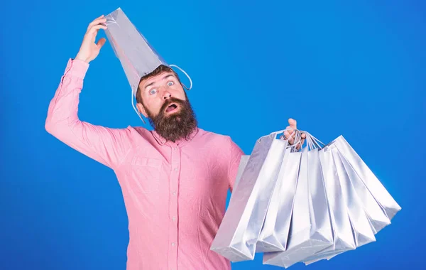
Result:
M105 38L101 38L97 43L94 43L94 41L96 40L99 29L107 29L107 26L104 24L106 22L107 18L104 18L104 15L102 15L92 21L92 23L89 23L89 27L87 27L87 32L84 35L80 51L77 53L75 59L90 63L90 61L94 60L94 58L97 58L99 51L107 40Z

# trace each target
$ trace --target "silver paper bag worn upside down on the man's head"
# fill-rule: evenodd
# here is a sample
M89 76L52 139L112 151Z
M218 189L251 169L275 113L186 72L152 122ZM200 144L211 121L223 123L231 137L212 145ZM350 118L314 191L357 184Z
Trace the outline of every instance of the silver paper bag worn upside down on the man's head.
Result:
M135 109L136 113L143 121L141 114L133 104L133 97L136 97L141 77L153 72L153 70L158 68L160 65L165 65L170 68L180 68L176 65L168 65L168 63L165 62L165 60L148 43L141 32L138 31L136 26L131 23L121 8L109 13L105 16L105 18L107 18L106 24L108 27L105 30L105 33L107 34L107 38L116 57L120 60L121 66L126 73L127 80L129 80L133 109ZM184 70L180 70L187 75ZM188 75L187 77L190 79ZM183 86L187 90L190 90L192 87L191 79L190 83L191 85L189 88L185 87L185 85ZM145 121L143 122L145 123Z

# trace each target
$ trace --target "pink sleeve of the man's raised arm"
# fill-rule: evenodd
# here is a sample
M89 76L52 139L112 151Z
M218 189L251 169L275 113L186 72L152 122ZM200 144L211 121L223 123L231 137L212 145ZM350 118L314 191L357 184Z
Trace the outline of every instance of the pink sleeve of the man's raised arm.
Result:
M130 129L110 129L78 118L78 104L89 63L70 59L48 107L45 129L67 146L113 168L129 150Z

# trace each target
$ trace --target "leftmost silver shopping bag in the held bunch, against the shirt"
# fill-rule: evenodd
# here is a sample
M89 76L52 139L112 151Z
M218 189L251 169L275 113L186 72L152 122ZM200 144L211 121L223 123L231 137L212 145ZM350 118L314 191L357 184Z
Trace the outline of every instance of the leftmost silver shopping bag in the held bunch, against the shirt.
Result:
M288 145L288 141L275 139L279 132L256 141L212 242L210 249L230 261L254 259L256 242Z

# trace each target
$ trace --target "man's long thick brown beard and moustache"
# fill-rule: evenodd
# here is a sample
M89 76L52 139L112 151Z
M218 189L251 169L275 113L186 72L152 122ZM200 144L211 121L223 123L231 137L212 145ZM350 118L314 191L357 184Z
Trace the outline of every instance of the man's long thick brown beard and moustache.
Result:
M178 112L168 114L165 110L172 103L178 105ZM168 141L190 139L190 135L197 129L197 119L188 99L182 100L170 97L156 116L148 112L148 120L155 131Z

